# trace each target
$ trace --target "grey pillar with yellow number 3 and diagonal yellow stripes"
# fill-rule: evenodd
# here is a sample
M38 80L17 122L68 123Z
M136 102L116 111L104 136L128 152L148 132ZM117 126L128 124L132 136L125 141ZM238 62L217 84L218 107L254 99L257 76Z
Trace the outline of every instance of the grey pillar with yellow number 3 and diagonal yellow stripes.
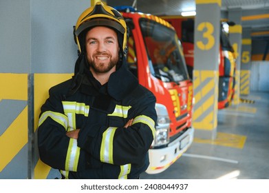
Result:
M220 0L196 0L193 85L195 136L215 139L219 85ZM210 10L210 11L209 11Z

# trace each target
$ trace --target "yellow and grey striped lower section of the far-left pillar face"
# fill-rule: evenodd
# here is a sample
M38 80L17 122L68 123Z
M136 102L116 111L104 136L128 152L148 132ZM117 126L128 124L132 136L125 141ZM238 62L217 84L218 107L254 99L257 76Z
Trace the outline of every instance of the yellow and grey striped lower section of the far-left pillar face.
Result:
M15 165L28 168L28 74L0 73L0 88L0 112L9 114L0 117L0 179L27 179Z

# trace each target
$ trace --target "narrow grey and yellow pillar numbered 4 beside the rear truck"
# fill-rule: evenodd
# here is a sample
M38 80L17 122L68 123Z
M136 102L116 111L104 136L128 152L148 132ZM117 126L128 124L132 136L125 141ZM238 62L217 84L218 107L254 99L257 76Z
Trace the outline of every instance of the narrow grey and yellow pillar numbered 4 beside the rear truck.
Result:
M229 39L230 43L235 50L236 59L236 72L235 72L235 95L233 98L233 105L239 104L240 99L240 70L241 70L241 36L242 36L242 26L241 26L241 8L233 8L228 10L228 20L234 21L235 26L230 26L229 28Z

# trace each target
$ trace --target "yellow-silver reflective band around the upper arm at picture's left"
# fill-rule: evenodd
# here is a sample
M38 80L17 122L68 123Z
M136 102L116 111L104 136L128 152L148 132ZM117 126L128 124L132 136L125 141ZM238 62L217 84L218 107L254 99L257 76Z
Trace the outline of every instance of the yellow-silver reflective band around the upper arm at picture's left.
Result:
M67 116L59 112L46 111L41 114L39 118L39 126L47 119L47 117L52 118L54 121L62 125L65 130L67 130Z

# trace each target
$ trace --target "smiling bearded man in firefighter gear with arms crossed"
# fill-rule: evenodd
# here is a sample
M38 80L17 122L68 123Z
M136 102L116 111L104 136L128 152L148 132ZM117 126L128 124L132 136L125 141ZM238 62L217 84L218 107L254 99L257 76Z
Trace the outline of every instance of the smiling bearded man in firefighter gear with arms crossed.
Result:
M138 179L157 115L155 96L127 70L125 20L98 2L80 15L74 35L74 77L51 88L41 107L41 161L63 179Z

